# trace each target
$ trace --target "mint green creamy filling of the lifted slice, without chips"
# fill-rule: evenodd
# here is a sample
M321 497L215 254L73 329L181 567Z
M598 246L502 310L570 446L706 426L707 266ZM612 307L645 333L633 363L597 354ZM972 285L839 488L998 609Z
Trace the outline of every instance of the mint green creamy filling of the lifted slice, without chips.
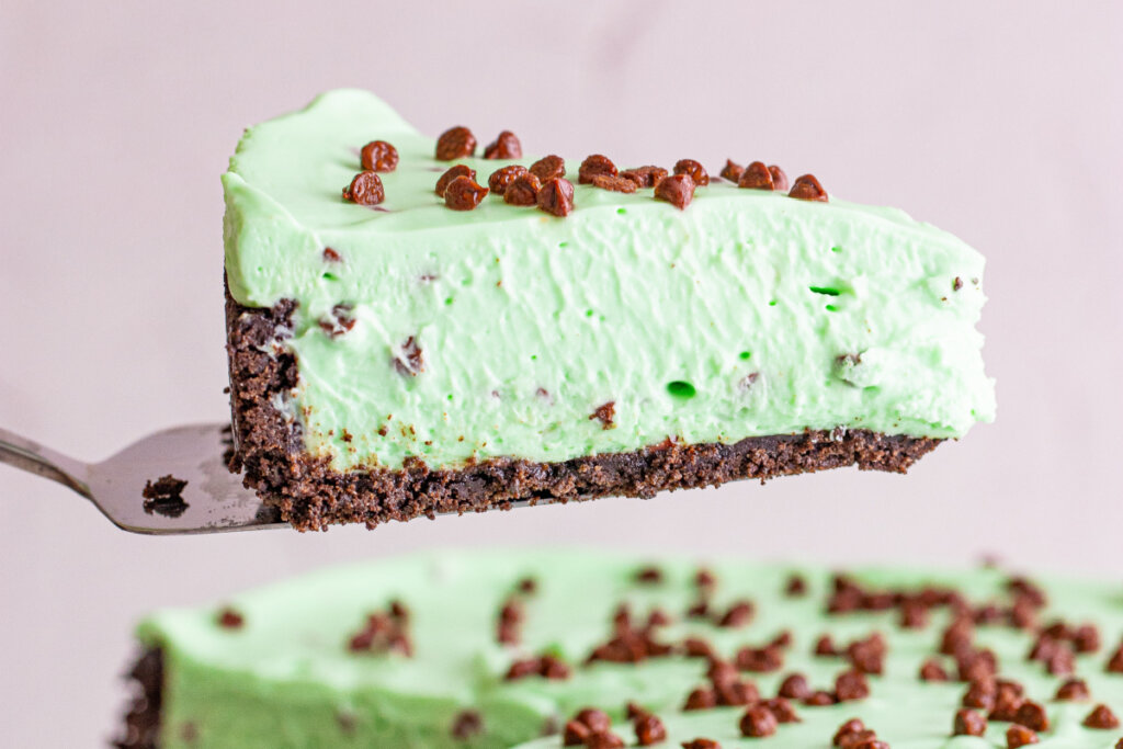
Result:
M401 156L384 210L340 198L373 139ZM300 383L279 405L337 469L838 427L959 437L994 418L984 261L944 231L720 180L685 211L576 185L564 219L497 195L458 212L433 192L450 165L433 148L372 94L335 91L247 130L222 179L230 292L299 302ZM486 184L533 161L456 163ZM355 325L332 338L339 304ZM611 429L590 419L608 402Z

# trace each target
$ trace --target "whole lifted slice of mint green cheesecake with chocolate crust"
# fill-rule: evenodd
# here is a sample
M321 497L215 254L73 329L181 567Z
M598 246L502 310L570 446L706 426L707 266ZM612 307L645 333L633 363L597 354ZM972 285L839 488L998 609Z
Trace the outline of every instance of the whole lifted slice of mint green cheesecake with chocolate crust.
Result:
M956 237L763 162L538 153L350 90L246 131L232 466L296 528L904 472L993 419Z

